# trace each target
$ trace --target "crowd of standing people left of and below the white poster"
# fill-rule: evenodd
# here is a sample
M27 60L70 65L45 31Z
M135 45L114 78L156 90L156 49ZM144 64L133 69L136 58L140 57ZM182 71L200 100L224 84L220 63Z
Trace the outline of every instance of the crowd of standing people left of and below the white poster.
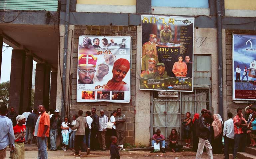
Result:
M62 121L59 110L46 112L43 105L33 111L27 109L22 115L18 115L15 109L6 106L0 107L0 158L6 157L7 146L10 146L10 157L13 159L25 159L24 144L37 143L38 158L48 158L48 146L50 151L57 150L57 138L60 134L62 150L71 150L74 156L80 156L79 150L90 153L90 150L106 151L110 148L111 158L120 158L119 150L124 150L125 138L125 114L121 108L111 114L110 120L104 110L100 110L100 116L96 114L96 108L87 111L85 117L83 111L72 116L72 122L68 117ZM49 141L49 142L48 142Z

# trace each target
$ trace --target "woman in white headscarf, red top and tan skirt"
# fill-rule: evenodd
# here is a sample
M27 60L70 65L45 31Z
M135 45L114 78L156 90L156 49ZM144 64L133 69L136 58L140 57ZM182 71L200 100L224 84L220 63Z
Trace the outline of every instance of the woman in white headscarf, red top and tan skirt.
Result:
M15 135L14 149L12 153L13 159L25 159L25 134L26 134L26 117L24 115L18 115L16 117L17 125L13 127Z

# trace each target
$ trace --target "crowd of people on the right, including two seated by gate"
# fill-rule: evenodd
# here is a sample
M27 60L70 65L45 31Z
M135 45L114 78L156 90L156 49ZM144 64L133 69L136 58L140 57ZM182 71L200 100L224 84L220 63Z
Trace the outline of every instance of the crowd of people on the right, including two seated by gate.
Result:
M192 150L197 152L196 159L202 158L204 147L206 148L209 158L213 158L213 153L222 153L224 144L225 159L229 158L230 147L233 157L236 158L237 152L245 151L246 146L256 147L256 108L249 105L245 108L245 115L242 109L237 108L237 114L233 118L233 114L227 114L228 120L223 123L219 114L211 114L207 109L201 110L201 116L194 114L193 119L191 113L186 113L186 118L182 122L183 139L185 146L178 144L179 135L176 129L172 129L169 135L169 148L172 152L178 152L182 147L189 148L191 141L191 132L193 136ZM165 137L161 131L156 130L156 134L152 136L152 150L155 152L155 144L159 143L161 152L166 153Z

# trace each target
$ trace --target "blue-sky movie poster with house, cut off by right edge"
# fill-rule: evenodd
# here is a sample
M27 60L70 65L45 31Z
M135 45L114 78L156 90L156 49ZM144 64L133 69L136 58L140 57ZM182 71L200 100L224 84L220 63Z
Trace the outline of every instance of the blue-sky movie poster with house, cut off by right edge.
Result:
M256 35L233 34L233 100L256 100Z

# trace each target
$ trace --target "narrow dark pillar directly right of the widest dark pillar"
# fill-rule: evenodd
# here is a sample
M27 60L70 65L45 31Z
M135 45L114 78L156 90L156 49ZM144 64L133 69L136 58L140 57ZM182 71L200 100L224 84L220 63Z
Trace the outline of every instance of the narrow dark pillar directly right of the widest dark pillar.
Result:
M24 70L24 87L23 87L23 107L22 112L31 105L31 85L32 85L32 71L33 71L33 56L26 55L25 70Z

